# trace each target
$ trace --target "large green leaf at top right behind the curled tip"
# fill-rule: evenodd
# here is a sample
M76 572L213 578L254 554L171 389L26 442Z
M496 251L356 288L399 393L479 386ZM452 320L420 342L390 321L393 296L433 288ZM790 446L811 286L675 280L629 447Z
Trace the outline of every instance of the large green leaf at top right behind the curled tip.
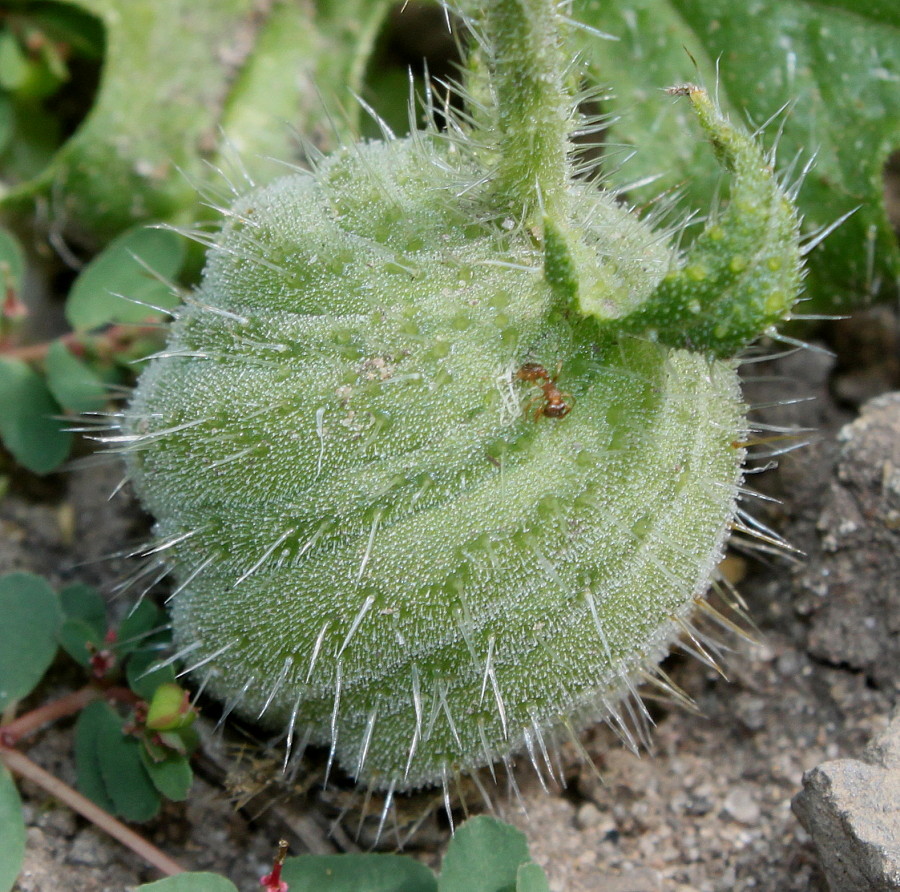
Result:
M573 15L619 38L573 35L622 113L604 139L637 149L611 171L613 181L662 174L631 190L632 200L677 186L684 207L705 213L713 202L718 176L709 148L662 89L699 79L715 87L733 120L752 126L788 103L764 139L777 136L782 168L799 158L794 176L816 156L797 199L804 231L859 207L811 253L808 293L824 306L896 292L900 248L885 209L883 166L900 147L900 4L578 0ZM609 166L624 154L614 153Z

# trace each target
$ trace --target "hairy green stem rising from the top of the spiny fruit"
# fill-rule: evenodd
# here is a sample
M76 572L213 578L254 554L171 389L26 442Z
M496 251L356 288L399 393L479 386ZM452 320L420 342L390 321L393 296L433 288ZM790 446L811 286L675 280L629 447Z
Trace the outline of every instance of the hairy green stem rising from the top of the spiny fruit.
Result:
M497 187L526 213L538 204L560 219L568 179L569 109L554 0L492 0L488 44L497 93Z

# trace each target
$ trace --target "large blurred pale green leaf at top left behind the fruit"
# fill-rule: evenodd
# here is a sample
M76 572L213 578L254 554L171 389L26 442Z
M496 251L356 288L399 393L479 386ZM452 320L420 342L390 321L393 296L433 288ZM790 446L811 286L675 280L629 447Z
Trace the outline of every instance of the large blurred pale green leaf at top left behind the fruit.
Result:
M42 170L19 159L33 176L0 204L30 212L64 196L58 225L95 244L140 220L196 219L202 200L219 200L207 187L272 179L266 156L301 160L295 133L320 147L346 140L358 115L350 90L392 2L62 0L105 30L100 88Z

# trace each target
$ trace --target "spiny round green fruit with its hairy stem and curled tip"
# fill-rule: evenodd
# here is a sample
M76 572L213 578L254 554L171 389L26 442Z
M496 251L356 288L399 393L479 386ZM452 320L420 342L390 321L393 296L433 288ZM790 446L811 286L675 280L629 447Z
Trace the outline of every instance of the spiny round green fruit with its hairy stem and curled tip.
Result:
M448 133L241 197L117 438L191 673L375 788L619 715L734 518L728 357L797 296L794 210L702 90L731 195L686 255L574 178L555 6L487 4Z

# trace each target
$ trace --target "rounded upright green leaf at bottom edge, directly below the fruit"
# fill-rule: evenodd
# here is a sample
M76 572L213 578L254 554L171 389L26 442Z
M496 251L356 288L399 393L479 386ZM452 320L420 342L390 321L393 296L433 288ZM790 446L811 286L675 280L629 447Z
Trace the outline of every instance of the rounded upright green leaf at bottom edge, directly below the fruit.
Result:
M466 821L447 847L439 892L513 892L519 865L531 860L525 834L496 818Z

